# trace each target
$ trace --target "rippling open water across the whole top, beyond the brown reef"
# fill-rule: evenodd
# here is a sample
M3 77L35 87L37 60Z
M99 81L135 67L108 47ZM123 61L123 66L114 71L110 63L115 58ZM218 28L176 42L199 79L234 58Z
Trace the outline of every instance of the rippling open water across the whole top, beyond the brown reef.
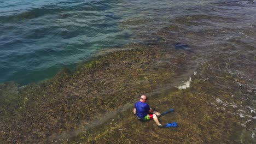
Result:
M236 0L1 1L0 82L27 84L49 79L62 67L72 69L100 50L148 43L150 34L170 25L182 27L173 33L173 43L207 47L237 37L255 46L255 5ZM189 25L189 16L204 18L193 18ZM184 35L200 31L196 37ZM251 34L248 38L245 31ZM207 51L197 52L207 55Z

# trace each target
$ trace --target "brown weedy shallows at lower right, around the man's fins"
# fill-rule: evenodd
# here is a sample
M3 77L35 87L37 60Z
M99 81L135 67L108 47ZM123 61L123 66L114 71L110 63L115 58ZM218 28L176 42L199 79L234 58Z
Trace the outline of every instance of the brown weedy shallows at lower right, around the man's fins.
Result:
M255 112L248 108L253 94L248 94L248 87L234 82L244 85L245 81L220 71L230 64L219 65L217 59L219 57L197 69L191 76L190 88L171 88L150 97L149 105L160 112L174 108L175 112L161 117L160 122L177 122L178 128L159 128L153 121L138 121L132 105L129 110L71 140L82 143L255 143L252 137ZM248 95L242 96L242 93Z

